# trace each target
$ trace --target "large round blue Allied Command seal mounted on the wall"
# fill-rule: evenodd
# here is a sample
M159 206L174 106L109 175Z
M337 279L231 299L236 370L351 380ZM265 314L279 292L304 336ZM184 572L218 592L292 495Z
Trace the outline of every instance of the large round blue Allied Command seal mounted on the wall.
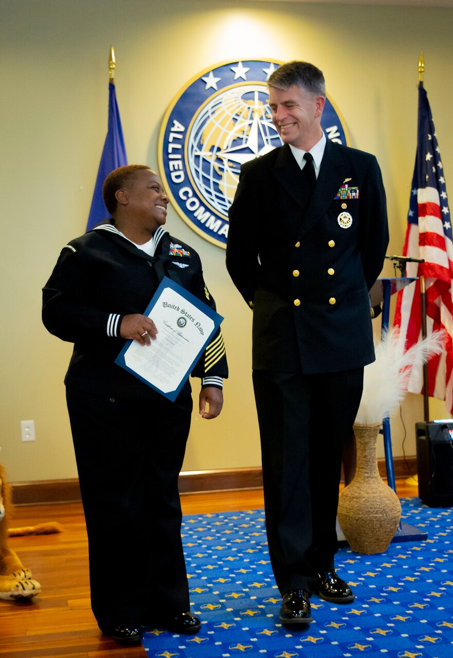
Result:
M228 208L240 166L282 144L272 122L267 78L279 60L229 61L196 74L174 97L161 124L159 170L178 215L225 248ZM344 120L327 95L321 126L348 144Z

